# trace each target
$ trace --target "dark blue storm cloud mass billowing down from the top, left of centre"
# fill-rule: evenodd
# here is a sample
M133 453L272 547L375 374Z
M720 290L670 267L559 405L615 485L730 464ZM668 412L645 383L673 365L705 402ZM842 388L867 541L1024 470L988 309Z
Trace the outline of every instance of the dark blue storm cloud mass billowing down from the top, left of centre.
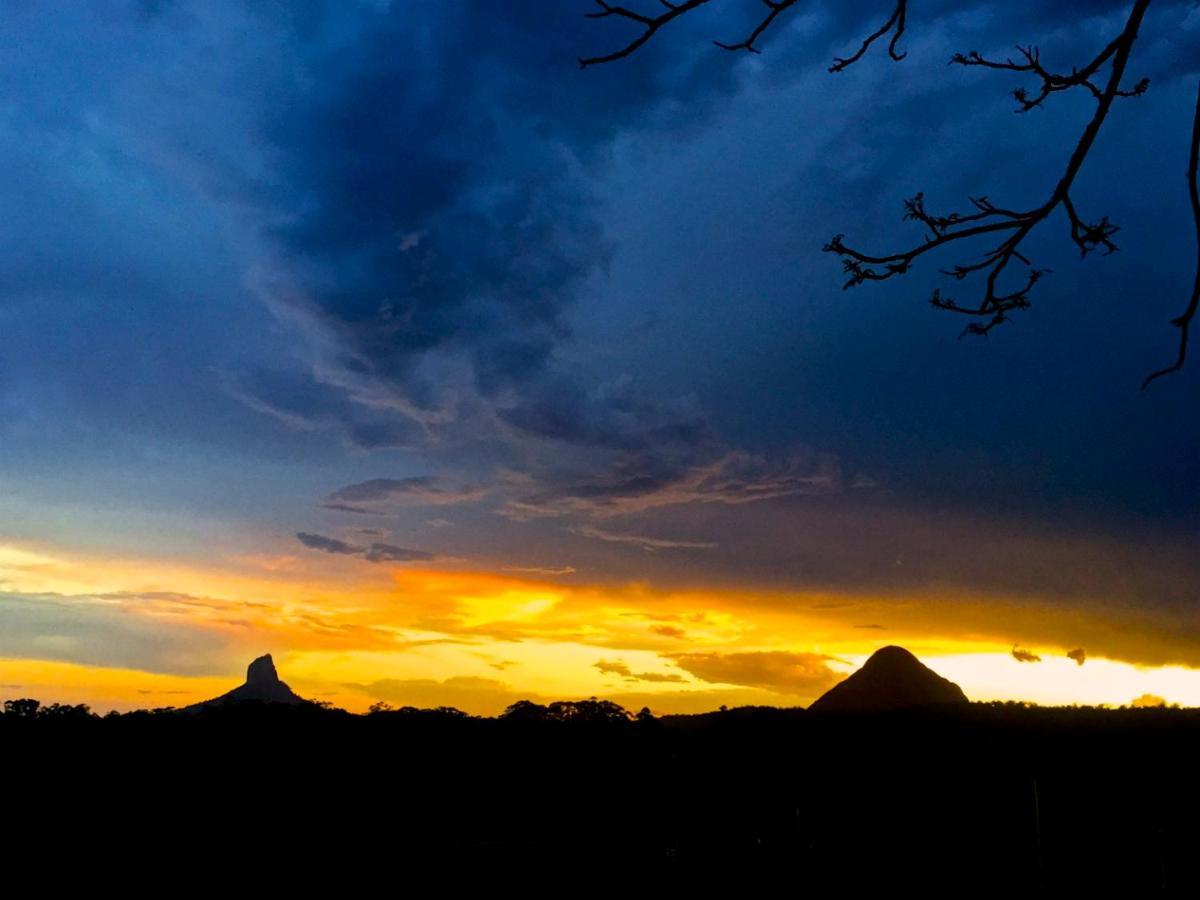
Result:
M664 104L703 115L731 68L655 55L584 78L571 4L307 13L295 90L264 124L278 254L260 288L342 403L444 425L455 391L528 385L566 336L565 306L611 253L587 172L607 143ZM553 419L559 380L516 427L588 427Z

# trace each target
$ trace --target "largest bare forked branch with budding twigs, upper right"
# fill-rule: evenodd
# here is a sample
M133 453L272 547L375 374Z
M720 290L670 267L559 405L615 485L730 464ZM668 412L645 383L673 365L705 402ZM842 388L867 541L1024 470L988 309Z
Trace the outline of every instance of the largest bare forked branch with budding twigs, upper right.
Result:
M977 272L986 272L985 289L978 304L962 306L954 298L943 296L941 290L935 290L931 302L940 310L962 313L966 316L986 319L967 325L964 335L986 335L992 328L1008 320L1009 314L1015 310L1024 310L1030 306L1030 292L1038 281L1048 274L1045 269L1036 268L1021 252L1021 244L1042 222L1062 206L1067 212L1070 223L1072 240L1080 250L1081 256L1086 256L1093 250L1103 248L1105 253L1116 251L1112 236L1117 227L1111 224L1108 217L1098 222L1085 221L1075 209L1070 197L1070 190L1075 178L1087 158L1096 137L1099 133L1112 103L1117 97L1140 95L1145 91L1145 82L1139 82L1139 88L1132 91L1123 91L1121 82L1124 77L1126 66L1138 31L1141 28L1146 8L1151 0L1135 0L1121 34L1102 50L1087 66L1072 76L1055 76L1042 67L1037 50L1030 48L1024 53L1025 62L1018 64L1008 60L1006 62L994 62L984 60L979 54L955 56L954 61L961 65L978 65L988 68L1004 68L1019 72L1032 72L1043 79L1043 91L1038 97L1027 97L1019 102L1026 109L1042 103L1050 92L1067 90L1073 86L1091 88L1098 100L1096 113L1084 130L1075 150L1070 155L1067 169L1054 192L1040 206L1027 211L1013 211L995 206L988 198L972 199L974 212L970 215L950 214L948 216L932 216L925 210L924 197L917 194L905 204L905 218L924 224L928 229L925 240L906 251L884 256L872 256L850 247L844 241L844 235L836 235L830 240L824 250L836 253L842 258L842 268L850 276L845 288L852 288L868 281L886 281L896 275L906 274L913 263L930 251L940 250L949 244L971 240L985 235L996 235L1002 240L983 257L973 263L955 265L943 274L962 281ZM1105 64L1110 64L1109 78L1103 89L1092 84L1091 78L1096 76ZM1010 265L1018 264L1025 268L1024 280L1008 293L998 287L1001 277Z

